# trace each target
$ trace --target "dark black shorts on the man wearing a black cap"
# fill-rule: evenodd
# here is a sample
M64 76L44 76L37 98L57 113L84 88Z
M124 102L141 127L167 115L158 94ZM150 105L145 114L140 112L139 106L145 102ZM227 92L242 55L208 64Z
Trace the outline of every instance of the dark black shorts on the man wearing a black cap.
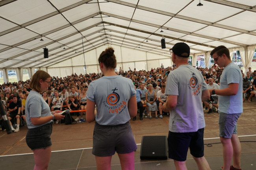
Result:
M187 151L194 157L204 156L204 128L197 132L176 133L168 135L169 158L176 161L186 161Z

